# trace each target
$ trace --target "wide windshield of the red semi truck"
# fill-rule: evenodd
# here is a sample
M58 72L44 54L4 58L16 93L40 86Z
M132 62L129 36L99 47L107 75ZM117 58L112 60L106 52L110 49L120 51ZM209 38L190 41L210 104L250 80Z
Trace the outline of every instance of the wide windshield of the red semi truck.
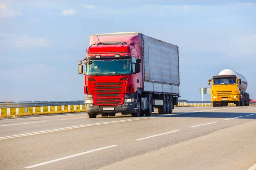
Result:
M131 59L92 59L86 65L86 75L131 74Z

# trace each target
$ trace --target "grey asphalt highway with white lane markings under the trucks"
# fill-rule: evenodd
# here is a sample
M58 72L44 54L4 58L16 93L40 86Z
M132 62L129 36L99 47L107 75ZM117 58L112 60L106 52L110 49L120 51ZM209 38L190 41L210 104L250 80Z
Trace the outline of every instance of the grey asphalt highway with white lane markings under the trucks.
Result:
M256 106L0 120L1 170L254 170Z

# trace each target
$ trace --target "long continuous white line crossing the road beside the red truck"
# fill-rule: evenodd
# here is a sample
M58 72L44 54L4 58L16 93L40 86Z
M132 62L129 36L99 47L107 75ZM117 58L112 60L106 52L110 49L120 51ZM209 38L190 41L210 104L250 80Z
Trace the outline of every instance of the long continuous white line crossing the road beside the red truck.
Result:
M236 108L236 107L234 107L234 108ZM211 110L204 110L204 111L217 111L217 110L224 110L224 109L232 109L232 108L211 109ZM135 119L113 121L113 122L102 122L102 123L95 123L95 124L78 125L78 126L64 127L64 128L58 128L58 129L52 129L52 130L44 130L44 131L39 131L39 132L24 133L24 134L19 134L19 135L3 136L3 137L0 137L0 140L17 138L17 137L21 137L21 136L30 136L30 135L36 135L36 134L42 134L42 133L50 133L50 132L56 132L56 131L61 131L61 130L70 130L70 129L80 128L80 127L88 127L88 126L95 126L95 125L105 125L105 124L112 124L112 123L119 123L119 122L129 122L129 121L142 120L142 119L152 119L152 118L155 118L155 117L176 116L176 115L189 114L189 113L197 113L197 112L204 112L204 111L194 111L194 112L177 113L177 114L166 114L166 115L151 116L151 117L145 117L145 118L135 118ZM59 115L59 116L61 116L61 115Z

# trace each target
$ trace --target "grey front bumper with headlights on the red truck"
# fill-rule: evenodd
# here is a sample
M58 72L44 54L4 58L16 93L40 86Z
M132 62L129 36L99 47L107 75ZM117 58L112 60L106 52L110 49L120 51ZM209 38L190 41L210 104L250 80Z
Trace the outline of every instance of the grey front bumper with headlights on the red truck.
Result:
M85 111L86 113L136 113L135 104L135 102L128 102L117 106L98 106L93 103L85 103ZM104 110L104 108L114 108L114 110Z

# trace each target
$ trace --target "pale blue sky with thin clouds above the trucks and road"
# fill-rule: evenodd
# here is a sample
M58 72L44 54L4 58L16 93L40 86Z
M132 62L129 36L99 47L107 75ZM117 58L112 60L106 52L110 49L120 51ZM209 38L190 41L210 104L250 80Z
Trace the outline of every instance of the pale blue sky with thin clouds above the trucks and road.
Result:
M83 100L89 36L122 31L179 46L180 99L226 68L256 99L255 18L255 0L1 0L0 101Z

